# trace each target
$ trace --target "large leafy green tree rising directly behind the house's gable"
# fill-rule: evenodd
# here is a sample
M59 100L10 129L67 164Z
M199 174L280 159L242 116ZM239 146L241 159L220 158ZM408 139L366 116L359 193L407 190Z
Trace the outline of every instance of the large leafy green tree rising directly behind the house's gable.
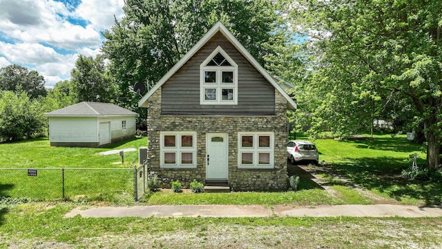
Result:
M264 66L265 57L278 57L289 44L289 30L278 11L284 8L271 0L127 0L124 18L106 30L102 47L119 84L119 102L145 111L137 109L140 96L128 86L155 84L218 21ZM140 116L146 118L145 113Z

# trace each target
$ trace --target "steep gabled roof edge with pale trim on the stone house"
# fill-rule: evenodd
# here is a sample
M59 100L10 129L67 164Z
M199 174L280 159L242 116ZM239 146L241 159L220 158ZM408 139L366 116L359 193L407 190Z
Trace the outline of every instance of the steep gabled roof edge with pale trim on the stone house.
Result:
M296 109L296 103L294 102L294 100L292 100L289 95L287 95L287 93L285 93L285 91L280 87L280 85L276 82L276 80L273 79L273 77L271 77L271 75L269 75L269 73L267 73L267 71L265 70L265 68L263 68L257 61L255 58L253 58L253 56L251 56L251 54L249 53L249 51L246 50L246 48L244 48L244 46L242 46L242 44L240 44L240 42L238 41L238 39L236 39L233 34L226 28L226 26L224 26L220 21L218 21L218 23L215 24L215 26L213 26L207 33L206 35L204 35L204 37L202 37L200 39L200 41L198 41L195 46L193 46L193 48L191 48L191 50L189 50L189 52L186 53L186 55L184 55L184 57L182 57L180 59L180 61L177 62L177 64L175 64L175 66L173 66L173 68L171 68L171 70L169 70L169 72L167 72L158 82L157 84L155 84L155 86L153 86L153 88L148 91L148 93L146 93L143 98L138 102L138 107L147 107L147 100L148 98L151 97L151 95L153 93L155 93L155 91L157 91L158 89L160 89L160 87L167 81L169 80L170 77L172 77L173 74L175 74L184 64L186 64L186 62L191 59L191 57L193 55L195 55L195 53L198 52L198 50L200 50L200 48L202 48L202 46L204 46L204 44L206 44L207 42L209 42L209 40L211 39L211 37L213 37L213 35L215 35L216 33L221 32L222 35L224 35L224 37L226 37L229 42L231 42L231 44L233 44L233 46L236 47L236 49L238 49L240 51L240 53L256 68L256 70L258 70L262 76L265 77L265 79L270 82L270 84L275 87L275 89L277 89L279 91L279 93L281 93L282 96L284 96L284 98L287 100L287 106L289 107L289 109Z

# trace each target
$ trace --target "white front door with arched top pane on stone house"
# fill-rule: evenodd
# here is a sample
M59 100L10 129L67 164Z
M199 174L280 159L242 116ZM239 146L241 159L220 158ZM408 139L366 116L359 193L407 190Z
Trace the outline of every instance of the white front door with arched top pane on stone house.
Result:
M228 179L229 134L206 133L206 178Z

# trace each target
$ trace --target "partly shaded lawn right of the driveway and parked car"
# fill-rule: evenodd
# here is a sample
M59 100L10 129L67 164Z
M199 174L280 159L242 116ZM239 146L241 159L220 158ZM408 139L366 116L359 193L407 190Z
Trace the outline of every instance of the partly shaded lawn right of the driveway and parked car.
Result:
M316 140L320 160L325 160L334 174L365 187L373 194L403 204L439 205L442 183L413 181L401 176L410 167L410 155L419 154L418 165L425 164L422 145L416 145L405 135L392 138L376 135L374 140Z

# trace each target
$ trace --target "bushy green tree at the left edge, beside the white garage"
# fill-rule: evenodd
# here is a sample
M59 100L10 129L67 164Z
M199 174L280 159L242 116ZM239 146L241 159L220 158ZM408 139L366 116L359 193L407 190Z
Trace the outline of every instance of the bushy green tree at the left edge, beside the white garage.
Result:
M39 136L45 131L44 109L38 99L26 93L0 92L0 138L17 141Z

